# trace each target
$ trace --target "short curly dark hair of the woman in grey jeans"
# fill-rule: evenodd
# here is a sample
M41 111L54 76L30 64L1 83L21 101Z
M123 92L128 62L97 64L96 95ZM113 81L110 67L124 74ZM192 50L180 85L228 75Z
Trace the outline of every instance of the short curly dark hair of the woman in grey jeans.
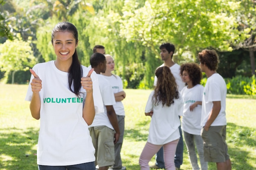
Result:
M200 84L202 79L202 72L198 64L196 63L186 63L180 66L180 75L183 71L186 71L189 74L189 79L192 81L192 85L195 86ZM186 85L188 85L186 83Z

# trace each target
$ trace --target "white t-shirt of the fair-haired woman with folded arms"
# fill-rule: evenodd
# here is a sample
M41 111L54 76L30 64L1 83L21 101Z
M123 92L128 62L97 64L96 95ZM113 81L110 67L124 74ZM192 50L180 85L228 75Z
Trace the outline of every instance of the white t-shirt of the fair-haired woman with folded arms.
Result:
M122 79L117 76L117 75L111 75L111 76L106 76L103 75L103 77L105 77L106 79L108 79L108 81L110 82L113 92L118 93L120 91L123 91L123 82ZM119 116L124 116L124 105L122 102L116 102L116 104L113 105L116 115Z

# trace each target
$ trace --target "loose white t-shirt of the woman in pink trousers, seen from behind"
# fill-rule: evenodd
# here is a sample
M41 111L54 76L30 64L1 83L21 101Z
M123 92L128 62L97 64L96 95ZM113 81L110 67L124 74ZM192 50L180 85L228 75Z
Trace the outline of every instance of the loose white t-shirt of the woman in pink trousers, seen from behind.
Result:
M152 99L154 93L155 91L150 93L145 108L145 113L153 110L148 142L155 145L163 145L180 138L179 116L182 116L183 101L180 97L179 99L174 99L174 104L171 104L170 107L163 107L161 102L156 106Z

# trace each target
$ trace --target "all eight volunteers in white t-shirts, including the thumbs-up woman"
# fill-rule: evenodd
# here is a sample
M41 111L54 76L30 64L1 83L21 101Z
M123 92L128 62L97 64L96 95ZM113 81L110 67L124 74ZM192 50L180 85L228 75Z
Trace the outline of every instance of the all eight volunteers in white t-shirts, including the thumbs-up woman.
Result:
M73 24L56 24L56 60L30 69L25 99L32 117L40 119L38 170L126 170L120 155L125 122L121 101L126 97L121 78L112 74L114 60L101 45L94 46L91 68L81 65L78 42ZM145 108L152 119L139 158L141 170L149 170L156 153L151 168L180 169L182 131L193 170L200 169L195 145L202 170L207 170L207 161L216 162L218 170L231 170L225 142L226 84L216 73L218 55L203 50L198 54L200 67L179 66L172 60L173 44L162 44L160 51L164 64L155 71L155 89ZM208 77L205 87L200 85L201 71Z

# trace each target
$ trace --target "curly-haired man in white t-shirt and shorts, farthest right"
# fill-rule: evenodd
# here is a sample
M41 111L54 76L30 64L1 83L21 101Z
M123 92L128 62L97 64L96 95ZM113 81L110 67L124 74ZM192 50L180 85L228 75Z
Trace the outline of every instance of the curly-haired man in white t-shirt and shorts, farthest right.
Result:
M198 53L201 71L207 75L202 98L201 136L204 141L204 161L216 162L217 170L231 170L226 143L225 80L216 70L218 54L215 50Z

